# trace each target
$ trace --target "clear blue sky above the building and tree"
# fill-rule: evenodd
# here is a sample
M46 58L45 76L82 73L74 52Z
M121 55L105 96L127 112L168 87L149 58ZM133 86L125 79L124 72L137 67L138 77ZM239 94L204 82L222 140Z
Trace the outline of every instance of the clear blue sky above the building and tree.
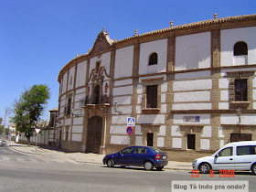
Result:
M255 0L0 0L0 117L35 84L46 84L48 110L58 107L59 71L87 53L101 32L112 39L218 17L256 14ZM5 125L13 114L7 111Z

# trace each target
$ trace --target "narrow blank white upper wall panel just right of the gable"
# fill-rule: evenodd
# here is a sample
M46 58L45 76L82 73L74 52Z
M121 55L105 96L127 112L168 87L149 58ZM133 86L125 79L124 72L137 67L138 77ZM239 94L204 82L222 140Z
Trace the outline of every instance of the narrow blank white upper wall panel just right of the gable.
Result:
M133 46L119 48L115 51L114 78L133 75Z

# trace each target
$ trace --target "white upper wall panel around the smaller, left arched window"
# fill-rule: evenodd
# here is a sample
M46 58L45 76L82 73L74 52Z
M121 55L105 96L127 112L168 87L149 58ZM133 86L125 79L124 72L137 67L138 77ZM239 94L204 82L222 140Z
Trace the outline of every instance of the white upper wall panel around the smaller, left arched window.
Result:
M139 67L140 75L166 71L167 42L168 41L165 38L141 44ZM157 65L148 66L149 57L154 52L157 53L158 63Z

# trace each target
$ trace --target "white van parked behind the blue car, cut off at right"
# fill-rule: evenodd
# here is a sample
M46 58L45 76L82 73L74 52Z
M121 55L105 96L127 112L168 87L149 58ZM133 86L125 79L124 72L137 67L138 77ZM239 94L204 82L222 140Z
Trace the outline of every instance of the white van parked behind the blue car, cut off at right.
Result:
M212 169L251 171L256 175L256 141L226 144L214 155L196 159L192 166L202 174Z

